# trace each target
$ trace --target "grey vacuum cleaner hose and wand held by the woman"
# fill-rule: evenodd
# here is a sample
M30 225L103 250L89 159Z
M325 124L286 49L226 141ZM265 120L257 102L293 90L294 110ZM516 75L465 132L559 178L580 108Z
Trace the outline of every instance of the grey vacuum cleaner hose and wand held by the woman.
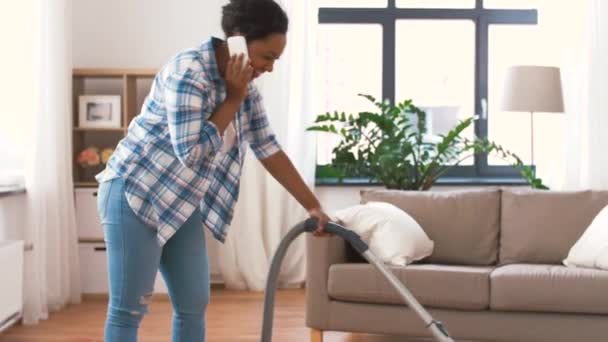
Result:
M277 289L277 279L279 276L279 271L281 269L281 262L283 261L283 257L289 248L289 245L292 243L295 238L297 238L300 234L308 232L314 232L318 227L318 220L309 218L305 221L300 222L296 226L294 226L288 233L285 235L277 251L272 258L272 264L270 265L270 272L268 273L268 278L266 281L266 294L264 298L264 318L262 322L262 342L271 342L272 340L272 320L274 314L274 297ZM445 327L441 324L441 322L433 319L431 315L424 309L422 305L416 300L416 298L412 295L412 293L395 277L395 275L384 265L384 263L376 257L370 250L369 246L361 240L361 237L353 232L352 230L348 230L336 223L328 223L324 230L330 234L337 235L344 240L346 240L357 252L361 253L361 255L369 261L370 264L374 265L378 271L389 281L389 283L397 290L401 298L407 304L409 308L414 310L414 312L422 319L425 326L431 331L433 337L438 342L454 342L454 340L449 336Z

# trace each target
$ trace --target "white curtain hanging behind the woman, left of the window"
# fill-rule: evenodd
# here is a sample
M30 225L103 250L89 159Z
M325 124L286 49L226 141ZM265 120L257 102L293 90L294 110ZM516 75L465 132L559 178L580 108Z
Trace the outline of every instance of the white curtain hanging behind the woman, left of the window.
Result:
M313 70L316 7L311 0L279 2L289 16L287 47L275 70L258 86L278 140L309 186L314 185L314 136L305 131L314 113ZM249 151L251 152L251 151ZM284 234L306 212L248 153L240 198L217 263L228 288L263 290L273 253ZM305 280L304 239L291 245L279 281L283 286Z

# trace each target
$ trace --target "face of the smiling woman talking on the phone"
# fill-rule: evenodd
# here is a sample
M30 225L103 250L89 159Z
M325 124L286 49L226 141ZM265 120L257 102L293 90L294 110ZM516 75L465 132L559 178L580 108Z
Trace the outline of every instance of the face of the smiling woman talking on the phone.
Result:
M274 62L281 57L287 37L282 33L273 33L266 38L249 42L249 59L253 67L253 78L264 72L272 72Z

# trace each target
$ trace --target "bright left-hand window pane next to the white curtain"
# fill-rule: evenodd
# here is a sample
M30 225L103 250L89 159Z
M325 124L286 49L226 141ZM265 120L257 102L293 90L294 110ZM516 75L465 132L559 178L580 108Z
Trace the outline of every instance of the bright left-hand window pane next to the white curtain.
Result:
M317 49L316 114L373 110L375 107L357 94L382 97L382 27L319 25ZM317 164L331 162L331 151L339 141L338 136L317 133Z

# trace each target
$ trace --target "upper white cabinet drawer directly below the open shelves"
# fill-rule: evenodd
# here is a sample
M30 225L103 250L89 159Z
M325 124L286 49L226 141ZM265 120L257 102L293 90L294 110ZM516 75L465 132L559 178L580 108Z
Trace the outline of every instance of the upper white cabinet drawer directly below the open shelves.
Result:
M103 229L97 214L97 188L76 189L74 192L78 238L103 239Z

